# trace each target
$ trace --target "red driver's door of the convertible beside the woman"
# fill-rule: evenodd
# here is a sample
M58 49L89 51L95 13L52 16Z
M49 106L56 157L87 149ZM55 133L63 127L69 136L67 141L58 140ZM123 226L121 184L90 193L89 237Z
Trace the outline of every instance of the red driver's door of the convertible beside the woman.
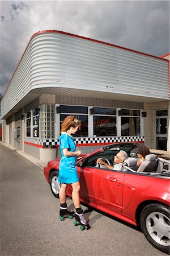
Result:
M124 172L96 167L77 167L80 197L87 202L121 213Z

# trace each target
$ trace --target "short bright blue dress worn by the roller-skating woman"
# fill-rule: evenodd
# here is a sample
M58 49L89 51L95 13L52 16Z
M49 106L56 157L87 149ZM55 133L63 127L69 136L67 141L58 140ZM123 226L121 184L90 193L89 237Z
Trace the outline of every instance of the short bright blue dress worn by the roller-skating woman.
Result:
M68 148L70 152L75 151L75 142L71 135L63 132L59 137L59 148L61 151L61 160L59 161L58 182L71 184L79 181L78 172L75 167L76 156L63 155L63 148Z

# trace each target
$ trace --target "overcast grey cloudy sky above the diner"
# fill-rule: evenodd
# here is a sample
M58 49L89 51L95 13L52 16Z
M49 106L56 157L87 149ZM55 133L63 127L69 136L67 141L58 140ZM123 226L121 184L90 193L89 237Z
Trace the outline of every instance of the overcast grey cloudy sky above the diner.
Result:
M169 1L1 1L0 93L31 36L61 30L161 56L169 50Z

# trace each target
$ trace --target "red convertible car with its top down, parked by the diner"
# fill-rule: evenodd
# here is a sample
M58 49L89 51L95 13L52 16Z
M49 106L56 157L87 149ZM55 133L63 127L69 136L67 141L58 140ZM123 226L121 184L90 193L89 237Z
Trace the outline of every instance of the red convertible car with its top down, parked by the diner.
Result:
M121 171L96 164L98 158L103 158L113 165L114 155L120 150L125 150L129 156ZM81 185L80 201L130 224L140 225L147 240L168 254L170 161L150 154L140 171L136 166L137 150L137 143L117 143L82 155L76 162ZM59 192L58 164L59 159L56 159L44 167L44 175L56 197ZM71 185L68 185L67 195L71 196L71 192Z

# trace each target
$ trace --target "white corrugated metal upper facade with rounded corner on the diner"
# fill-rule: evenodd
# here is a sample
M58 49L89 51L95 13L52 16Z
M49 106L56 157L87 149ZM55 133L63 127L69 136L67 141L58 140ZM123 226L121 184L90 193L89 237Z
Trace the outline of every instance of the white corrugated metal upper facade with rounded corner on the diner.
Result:
M47 87L169 100L168 61L60 32L37 34L3 97L2 118L32 89Z

